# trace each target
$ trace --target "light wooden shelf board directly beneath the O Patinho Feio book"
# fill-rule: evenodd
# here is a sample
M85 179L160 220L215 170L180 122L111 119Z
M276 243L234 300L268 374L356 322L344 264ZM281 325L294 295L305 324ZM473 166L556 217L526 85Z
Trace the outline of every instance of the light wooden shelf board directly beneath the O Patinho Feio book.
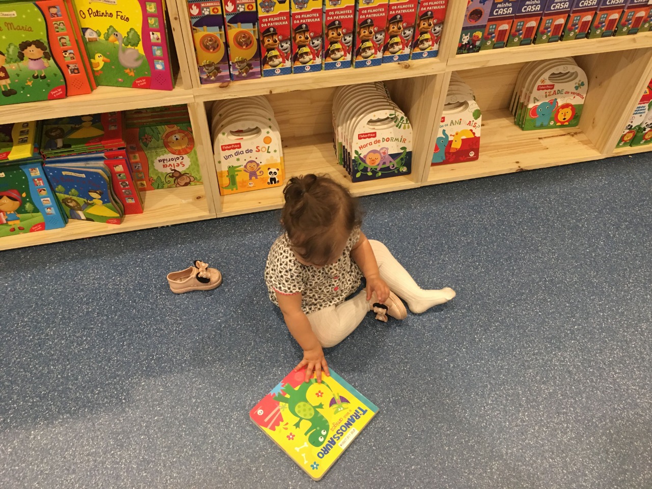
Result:
M87 95L7 105L0 108L0 124L194 102L192 90L181 83L177 75L171 91L101 86Z

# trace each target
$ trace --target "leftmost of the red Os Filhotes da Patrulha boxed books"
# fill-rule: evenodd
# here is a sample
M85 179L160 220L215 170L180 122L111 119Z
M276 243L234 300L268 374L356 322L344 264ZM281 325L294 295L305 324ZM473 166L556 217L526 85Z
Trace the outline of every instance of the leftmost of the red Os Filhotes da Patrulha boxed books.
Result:
M258 0L263 76L288 75L292 72L289 4L290 0Z

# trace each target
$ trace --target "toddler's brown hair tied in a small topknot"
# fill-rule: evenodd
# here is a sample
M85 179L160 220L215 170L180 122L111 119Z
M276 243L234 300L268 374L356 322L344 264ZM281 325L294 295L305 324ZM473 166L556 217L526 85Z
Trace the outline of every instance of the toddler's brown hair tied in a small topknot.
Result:
M357 200L326 175L292 177L283 194L283 227L295 252L313 265L326 265L337 239L362 223Z

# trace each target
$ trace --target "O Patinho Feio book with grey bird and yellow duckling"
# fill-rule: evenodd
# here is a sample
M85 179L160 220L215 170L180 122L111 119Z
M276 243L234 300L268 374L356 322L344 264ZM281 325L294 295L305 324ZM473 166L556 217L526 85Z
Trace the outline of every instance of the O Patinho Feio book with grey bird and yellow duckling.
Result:
M162 0L73 0L98 85L171 90Z

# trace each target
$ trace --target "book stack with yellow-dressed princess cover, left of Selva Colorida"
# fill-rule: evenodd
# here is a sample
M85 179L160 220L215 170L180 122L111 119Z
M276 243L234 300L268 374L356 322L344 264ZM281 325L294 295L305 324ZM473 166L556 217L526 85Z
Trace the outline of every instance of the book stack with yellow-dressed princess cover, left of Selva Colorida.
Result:
M121 224L125 214L143 212L125 145L121 112L42 123L44 170L67 218Z

